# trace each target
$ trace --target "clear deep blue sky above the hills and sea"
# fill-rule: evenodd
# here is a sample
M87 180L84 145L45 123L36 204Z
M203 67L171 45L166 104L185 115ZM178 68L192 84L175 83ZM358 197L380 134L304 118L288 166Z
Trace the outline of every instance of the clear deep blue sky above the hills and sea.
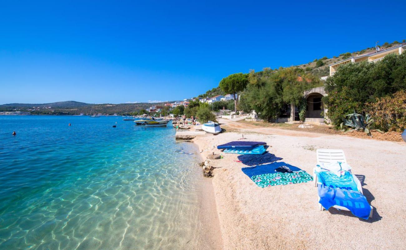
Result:
M331 3L2 1L0 104L179 100L229 74L406 39L406 1Z

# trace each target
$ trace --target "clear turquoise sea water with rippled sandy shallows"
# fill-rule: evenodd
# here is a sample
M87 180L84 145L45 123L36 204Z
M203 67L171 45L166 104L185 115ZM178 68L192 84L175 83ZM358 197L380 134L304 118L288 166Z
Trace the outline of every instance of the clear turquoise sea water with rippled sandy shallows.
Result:
M174 135L122 117L0 116L0 249L194 249L201 169Z

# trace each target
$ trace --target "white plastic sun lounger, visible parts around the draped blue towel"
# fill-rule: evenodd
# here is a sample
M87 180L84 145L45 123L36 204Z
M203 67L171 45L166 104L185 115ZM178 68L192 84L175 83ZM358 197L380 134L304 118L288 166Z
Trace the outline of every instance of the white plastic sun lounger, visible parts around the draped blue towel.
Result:
M341 149L317 149L316 151L316 157L317 157L317 164L320 163L331 163L331 162L345 162L347 163L346 155L344 154L344 151ZM317 168L313 168L313 180L314 180L314 186L317 187L317 185L320 183L317 179L317 174L316 174ZM351 171L350 171L351 173ZM362 186L361 182L358 180L358 178L355 176L355 174L352 174L352 178L354 179L354 182L356 183L356 187L358 191L363 194L362 192ZM321 183L320 183L321 184ZM317 195L318 199L320 200L320 197ZM346 210L350 211L346 207L341 207L339 205L333 206L336 209L341 209L341 210ZM319 203L319 209L320 211L324 211L324 207L322 204ZM371 206L371 213L369 214L369 217L372 217L372 211L374 208Z

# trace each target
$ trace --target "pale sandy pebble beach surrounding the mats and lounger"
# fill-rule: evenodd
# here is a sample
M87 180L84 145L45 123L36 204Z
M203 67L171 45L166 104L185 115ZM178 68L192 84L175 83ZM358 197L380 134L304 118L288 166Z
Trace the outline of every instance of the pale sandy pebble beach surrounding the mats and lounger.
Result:
M225 122L220 120L220 122ZM228 122L229 125L232 122ZM224 156L212 178L223 249L404 249L406 243L406 143L349 138L270 128L197 137L202 157ZM313 183L257 187L216 146L241 137L266 141L268 151L312 174L317 148L343 149L353 173L361 175L363 192L374 207L369 220L349 211L319 211Z

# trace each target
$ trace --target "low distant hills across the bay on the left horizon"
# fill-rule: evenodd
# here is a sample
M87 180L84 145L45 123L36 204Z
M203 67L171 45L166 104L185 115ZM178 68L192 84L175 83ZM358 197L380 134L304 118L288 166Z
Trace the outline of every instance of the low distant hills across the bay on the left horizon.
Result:
M175 101L172 101L175 102ZM172 103L171 102L171 103ZM80 113L89 114L102 113L112 115L125 115L131 112L138 112L141 109L148 109L153 105L164 106L165 102L149 103L120 103L120 104L89 104L84 102L67 101L52 103L9 103L0 105L0 111L29 111L37 115L78 115Z

